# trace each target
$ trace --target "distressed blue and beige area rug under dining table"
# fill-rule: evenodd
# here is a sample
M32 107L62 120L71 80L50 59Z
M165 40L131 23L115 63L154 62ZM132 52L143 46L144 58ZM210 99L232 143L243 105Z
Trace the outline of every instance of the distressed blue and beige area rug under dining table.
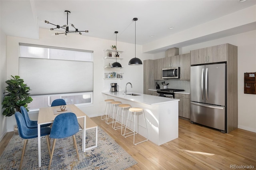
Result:
M98 127L98 147L82 152L82 130L76 135L79 159L77 159L72 136L57 139L52 158L51 170L124 170L137 162L119 146L102 128ZM52 144L52 139L51 139ZM95 129L86 130L86 147L95 144ZM16 170L20 159L24 139L14 134L3 154L0 156L0 170ZM41 138L42 166L38 168L38 141L29 139L23 158L23 170L48 169L50 156L46 138Z

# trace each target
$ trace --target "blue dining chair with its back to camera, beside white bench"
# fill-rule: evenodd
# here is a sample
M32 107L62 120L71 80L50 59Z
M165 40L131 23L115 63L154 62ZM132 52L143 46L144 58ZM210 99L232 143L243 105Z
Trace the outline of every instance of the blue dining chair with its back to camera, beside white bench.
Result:
M50 155L50 163L49 163L48 170L50 170L50 166L52 163L52 156L54 152L56 139L59 139L59 138L66 138L66 137L72 136L74 148L76 149L76 154L79 161L79 155L78 155L76 138L75 138L75 134L78 131L79 131L78 121L74 113L62 113L55 117L52 123L52 130L50 132L50 138L53 138L53 143L52 143L52 152Z

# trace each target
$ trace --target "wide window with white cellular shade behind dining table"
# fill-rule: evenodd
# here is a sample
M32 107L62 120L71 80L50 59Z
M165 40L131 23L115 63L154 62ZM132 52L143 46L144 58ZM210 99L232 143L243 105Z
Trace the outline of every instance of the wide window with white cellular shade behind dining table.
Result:
M91 104L92 51L20 43L19 75L33 98L30 109L50 106L54 99L67 104Z

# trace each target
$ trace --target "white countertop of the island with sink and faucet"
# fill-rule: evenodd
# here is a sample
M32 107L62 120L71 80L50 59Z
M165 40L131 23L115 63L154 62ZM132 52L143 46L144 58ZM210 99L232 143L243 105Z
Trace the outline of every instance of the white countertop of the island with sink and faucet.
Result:
M102 93L105 95L110 95L110 96L117 97L120 99L135 101L138 103L144 103L147 105L159 105L159 104L164 104L164 103L171 103L174 101L175 102L180 101L180 99L171 99L168 97L145 95L145 94L141 94L141 93L133 93L133 94L138 94L138 96L124 95L124 91L117 91L117 92L103 91ZM132 92L128 91L127 94L129 94L129 93L132 93Z

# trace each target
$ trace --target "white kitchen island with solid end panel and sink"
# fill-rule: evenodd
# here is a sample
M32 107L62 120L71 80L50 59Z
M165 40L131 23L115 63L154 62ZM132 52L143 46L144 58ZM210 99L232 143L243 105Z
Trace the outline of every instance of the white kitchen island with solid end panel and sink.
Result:
M122 104L130 104L132 107L144 109L148 127L149 140L158 146L178 138L178 101L167 97L158 97L133 93L124 95L124 91L102 92L107 99L121 101ZM138 120L138 119L137 119ZM143 124L142 114L139 114L139 123ZM130 127L128 125L128 127ZM136 130L137 131L137 130ZM147 137L146 130L139 127L139 134Z

